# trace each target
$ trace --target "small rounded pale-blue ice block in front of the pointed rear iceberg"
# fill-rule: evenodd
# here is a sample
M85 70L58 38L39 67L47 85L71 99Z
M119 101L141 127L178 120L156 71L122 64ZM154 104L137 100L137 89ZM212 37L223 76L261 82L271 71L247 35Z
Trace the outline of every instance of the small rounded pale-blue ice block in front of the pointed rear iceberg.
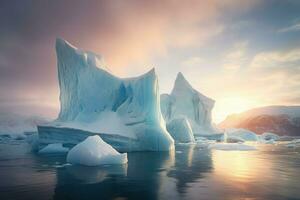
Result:
M167 130L176 143L195 142L190 123L186 118L173 119L167 124Z

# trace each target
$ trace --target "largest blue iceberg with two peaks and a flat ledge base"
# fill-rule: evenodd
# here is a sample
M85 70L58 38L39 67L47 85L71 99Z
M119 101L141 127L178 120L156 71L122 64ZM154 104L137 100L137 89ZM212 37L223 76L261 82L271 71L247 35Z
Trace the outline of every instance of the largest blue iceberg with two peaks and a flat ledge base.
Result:
M100 56L56 41L60 113L39 126L42 145L75 145L90 135L121 151L168 151L174 140L166 130L154 69L136 78L118 78Z

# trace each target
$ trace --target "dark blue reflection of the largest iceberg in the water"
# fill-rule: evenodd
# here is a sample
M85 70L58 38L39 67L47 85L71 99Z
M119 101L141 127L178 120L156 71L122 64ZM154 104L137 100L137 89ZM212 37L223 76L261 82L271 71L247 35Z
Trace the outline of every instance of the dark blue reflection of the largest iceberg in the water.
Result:
M55 199L157 199L160 175L173 163L173 152L128 154L128 164L66 167L57 172Z

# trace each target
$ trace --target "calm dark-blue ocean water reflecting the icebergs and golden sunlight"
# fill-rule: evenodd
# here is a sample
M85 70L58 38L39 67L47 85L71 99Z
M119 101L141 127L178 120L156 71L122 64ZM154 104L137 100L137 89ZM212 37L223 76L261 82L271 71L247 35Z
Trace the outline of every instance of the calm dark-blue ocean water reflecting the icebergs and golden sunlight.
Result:
M33 154L25 141L2 141L0 199L300 199L300 149L258 149L185 145L129 153L123 166L82 167Z

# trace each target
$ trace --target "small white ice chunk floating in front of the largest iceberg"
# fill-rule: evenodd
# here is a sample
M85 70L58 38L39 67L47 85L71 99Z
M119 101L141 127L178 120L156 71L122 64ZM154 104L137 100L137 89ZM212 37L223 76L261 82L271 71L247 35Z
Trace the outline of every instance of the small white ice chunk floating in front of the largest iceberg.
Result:
M127 163L127 153L120 154L98 135L90 136L73 147L67 162L86 166Z

